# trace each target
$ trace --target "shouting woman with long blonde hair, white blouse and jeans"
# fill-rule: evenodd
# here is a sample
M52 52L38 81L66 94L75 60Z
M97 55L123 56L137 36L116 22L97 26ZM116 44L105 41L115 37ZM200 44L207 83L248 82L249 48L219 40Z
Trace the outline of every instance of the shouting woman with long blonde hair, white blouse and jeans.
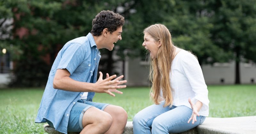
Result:
M180 133L202 124L209 114L209 100L196 56L175 47L164 25L151 25L143 33L142 46L151 57L149 78L155 104L134 116L133 133Z

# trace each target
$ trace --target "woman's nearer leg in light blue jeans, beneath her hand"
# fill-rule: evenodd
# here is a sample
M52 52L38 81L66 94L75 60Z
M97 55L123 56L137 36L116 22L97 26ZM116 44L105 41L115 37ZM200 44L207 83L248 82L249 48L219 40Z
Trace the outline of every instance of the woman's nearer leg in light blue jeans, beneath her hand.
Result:
M186 106L179 106L169 110L154 119L152 133L161 133L161 129L169 133L180 133L190 130L204 122L204 116L197 116L197 122L192 124L192 121L190 121L188 123L191 114L192 109Z

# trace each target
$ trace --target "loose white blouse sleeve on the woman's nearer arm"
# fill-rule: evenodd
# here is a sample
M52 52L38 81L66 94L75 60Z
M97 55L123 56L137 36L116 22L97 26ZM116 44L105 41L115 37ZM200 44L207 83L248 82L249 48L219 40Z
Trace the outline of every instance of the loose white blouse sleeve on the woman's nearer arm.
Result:
M208 110L210 102L208 99L208 90L197 58L191 53L188 53L184 55L181 63L183 74L188 78L192 90L195 93L195 97L191 98L191 101L194 104L197 100L201 101L203 106L200 111Z

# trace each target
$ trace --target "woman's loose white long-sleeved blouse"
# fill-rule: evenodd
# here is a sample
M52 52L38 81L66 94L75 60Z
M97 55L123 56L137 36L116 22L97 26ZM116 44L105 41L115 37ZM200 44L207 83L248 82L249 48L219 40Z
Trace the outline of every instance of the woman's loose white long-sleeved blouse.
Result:
M174 106L191 108L188 98L195 104L203 103L200 115L209 115L208 90L204 82L202 69L197 58L188 51L181 50L172 61L170 81Z

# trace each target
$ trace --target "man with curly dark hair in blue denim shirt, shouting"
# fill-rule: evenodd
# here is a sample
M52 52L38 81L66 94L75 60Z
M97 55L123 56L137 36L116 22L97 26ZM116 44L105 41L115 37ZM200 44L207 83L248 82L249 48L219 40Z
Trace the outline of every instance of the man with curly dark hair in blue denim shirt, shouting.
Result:
M49 74L37 113L36 123L47 122L62 133L123 133L126 111L110 104L92 102L97 93L112 96L117 88L125 88L126 80L116 75L97 80L101 48L112 50L122 40L124 17L112 11L101 11L92 21L86 37L68 41L58 53ZM112 80L114 79L114 80Z

